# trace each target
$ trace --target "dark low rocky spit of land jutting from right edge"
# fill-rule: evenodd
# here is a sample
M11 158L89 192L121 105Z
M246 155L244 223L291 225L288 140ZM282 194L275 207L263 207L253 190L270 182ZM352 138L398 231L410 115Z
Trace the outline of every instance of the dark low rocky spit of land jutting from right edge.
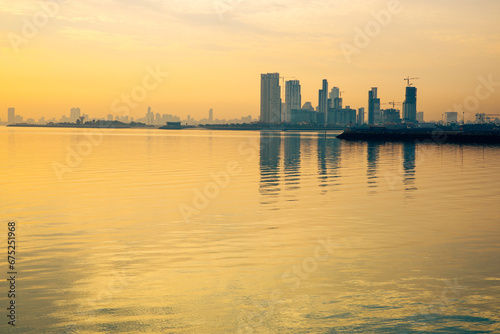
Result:
M337 136L345 140L425 141L434 143L500 143L496 127L461 127L456 130L423 128L350 128Z

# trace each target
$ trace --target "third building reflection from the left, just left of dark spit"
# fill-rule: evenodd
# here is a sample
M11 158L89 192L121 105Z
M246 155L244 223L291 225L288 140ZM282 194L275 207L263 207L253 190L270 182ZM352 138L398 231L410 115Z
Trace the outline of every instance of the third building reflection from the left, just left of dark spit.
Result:
M339 185L342 141L337 138L318 138L318 180L320 187Z

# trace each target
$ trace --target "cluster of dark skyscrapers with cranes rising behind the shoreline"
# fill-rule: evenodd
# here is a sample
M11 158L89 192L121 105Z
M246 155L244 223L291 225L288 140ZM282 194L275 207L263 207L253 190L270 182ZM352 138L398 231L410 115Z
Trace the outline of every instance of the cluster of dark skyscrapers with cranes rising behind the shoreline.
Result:
M261 75L260 121L262 123L291 123L316 125L365 124L365 108L358 110L343 106L342 92L338 87L328 89L328 80L323 80L318 92L318 105L310 102L302 105L299 80L285 82L285 102L281 99L279 73ZM377 87L368 92L368 124L423 122L423 113L417 115L417 89L408 81L406 99L402 103L403 115L393 102L390 109L381 109ZM302 107L301 107L302 105Z

